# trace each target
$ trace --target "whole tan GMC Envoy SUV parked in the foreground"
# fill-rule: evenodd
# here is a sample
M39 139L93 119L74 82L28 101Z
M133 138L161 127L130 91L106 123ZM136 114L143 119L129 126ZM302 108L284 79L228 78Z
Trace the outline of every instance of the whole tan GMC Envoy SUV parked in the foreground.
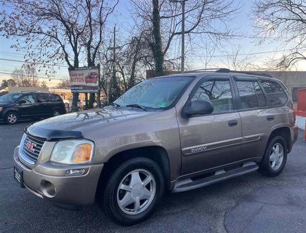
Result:
M152 78L103 109L25 128L21 187L62 207L95 200L121 225L148 218L164 191L257 170L279 175L298 135L287 88L267 74L219 69Z

